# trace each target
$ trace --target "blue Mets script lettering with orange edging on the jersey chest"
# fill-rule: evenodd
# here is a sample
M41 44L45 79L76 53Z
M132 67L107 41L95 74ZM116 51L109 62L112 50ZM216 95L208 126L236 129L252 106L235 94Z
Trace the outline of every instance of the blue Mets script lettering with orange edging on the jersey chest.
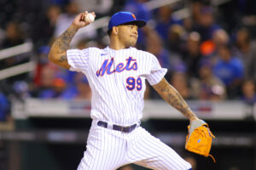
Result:
M111 75L113 72L122 72L122 71L137 71L137 60L132 59L132 57L129 57L126 60L126 65L123 63L119 63L116 65L116 67L111 71L112 65L113 65L113 58L111 59L105 59L104 62L102 63L101 68L96 71L96 76L97 77L102 77L105 75L107 72L108 75Z

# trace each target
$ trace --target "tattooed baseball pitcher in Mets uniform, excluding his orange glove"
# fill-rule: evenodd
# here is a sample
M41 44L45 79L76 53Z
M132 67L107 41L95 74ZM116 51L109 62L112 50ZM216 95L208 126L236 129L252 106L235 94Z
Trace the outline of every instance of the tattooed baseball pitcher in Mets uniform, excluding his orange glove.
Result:
M108 23L108 47L69 49L79 28L94 20L86 20L91 18L88 14L96 16L87 11L78 14L49 52L51 62L84 73L92 91L92 124L78 169L113 170L130 163L159 170L192 169L171 147L140 126L146 79L167 103L189 119L190 129L205 123L166 82L166 69L156 57L134 48L137 31L146 22L129 12L113 14Z

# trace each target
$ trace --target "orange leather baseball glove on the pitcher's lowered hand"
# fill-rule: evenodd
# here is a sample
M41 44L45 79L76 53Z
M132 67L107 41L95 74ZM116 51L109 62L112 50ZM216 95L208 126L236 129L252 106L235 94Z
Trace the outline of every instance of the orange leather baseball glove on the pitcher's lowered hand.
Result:
M190 126L188 126L188 129ZM207 124L203 124L201 127L195 128L195 130L187 135L185 149L202 156L211 156L214 162L215 159L210 155L210 150L212 146L212 138L215 136L210 131Z

